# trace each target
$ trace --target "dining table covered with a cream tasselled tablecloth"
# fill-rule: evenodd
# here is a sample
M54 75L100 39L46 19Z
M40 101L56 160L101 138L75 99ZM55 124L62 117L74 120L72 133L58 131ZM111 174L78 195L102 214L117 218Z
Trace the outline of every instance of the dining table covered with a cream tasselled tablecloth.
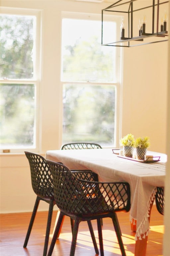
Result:
M117 153L118 152L118 153ZM111 148L48 150L46 159L62 162L69 169L91 170L101 182L128 182L130 185L130 224L135 232L135 256L145 256L151 208L156 187L164 187L166 154L147 151L153 161L126 158ZM159 161L158 161L159 160Z

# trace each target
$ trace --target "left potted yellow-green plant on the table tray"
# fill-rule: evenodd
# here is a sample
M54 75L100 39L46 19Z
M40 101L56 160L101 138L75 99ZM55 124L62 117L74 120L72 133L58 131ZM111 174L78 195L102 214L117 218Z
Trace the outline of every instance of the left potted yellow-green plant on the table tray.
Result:
M134 147L134 136L129 133L120 139L120 145L123 146L123 154L126 157L132 157Z

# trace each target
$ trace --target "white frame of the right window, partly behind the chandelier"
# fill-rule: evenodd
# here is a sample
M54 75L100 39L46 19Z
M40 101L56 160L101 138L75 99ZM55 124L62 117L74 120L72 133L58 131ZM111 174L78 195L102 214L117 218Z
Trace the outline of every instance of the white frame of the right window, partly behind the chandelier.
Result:
M78 12L61 12L61 24L62 24L62 19L82 19L82 20L95 20L95 21L101 21L101 15L99 14L89 14L89 13L78 13ZM118 23L118 26L121 26L122 22L122 16L111 16L107 15L107 18L105 18L107 21L115 21ZM102 28L102 27L101 27ZM61 31L62 33L62 31ZM120 31L117 30L117 33L119 34ZM108 47L108 46L102 46L102 47ZM123 105L123 88L122 88L122 74L123 74L123 49L122 47L116 47L116 59L117 59L117 76L116 76L116 81L113 83L107 83L107 82L89 82L87 81L87 84L90 85L92 84L93 86L95 85L113 85L116 88L116 101L115 101L115 134L114 134L114 145L111 146L105 146L105 148L119 148L119 140L121 138L122 134L122 105ZM61 36L61 70L60 70L60 83L61 83L61 88L63 88L64 84L70 84L74 82L74 84L78 85L81 83L81 81L65 81L64 79L62 80L62 36ZM62 105L63 109L63 105ZM63 133L62 133L63 137ZM63 140L62 140L63 141Z

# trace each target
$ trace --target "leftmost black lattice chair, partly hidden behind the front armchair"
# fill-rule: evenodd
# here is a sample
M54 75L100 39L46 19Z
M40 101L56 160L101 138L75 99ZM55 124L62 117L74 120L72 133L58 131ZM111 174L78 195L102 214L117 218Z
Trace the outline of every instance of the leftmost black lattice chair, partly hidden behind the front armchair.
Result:
M32 188L35 194L37 195L37 198L23 247L27 247L28 240L36 217L36 213L39 207L39 203L42 200L49 204L45 242L43 249L43 256L46 256L51 227L52 212L53 207L56 204L54 200L52 176L46 160L41 155L27 151L25 151L25 154L30 164Z

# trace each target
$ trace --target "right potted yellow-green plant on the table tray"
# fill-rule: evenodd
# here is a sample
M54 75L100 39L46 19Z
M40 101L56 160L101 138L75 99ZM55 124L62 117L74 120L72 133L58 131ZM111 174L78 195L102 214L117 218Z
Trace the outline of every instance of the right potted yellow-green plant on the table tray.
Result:
M147 148L150 146L149 137L138 137L134 143L136 150L136 158L139 160L144 160Z

